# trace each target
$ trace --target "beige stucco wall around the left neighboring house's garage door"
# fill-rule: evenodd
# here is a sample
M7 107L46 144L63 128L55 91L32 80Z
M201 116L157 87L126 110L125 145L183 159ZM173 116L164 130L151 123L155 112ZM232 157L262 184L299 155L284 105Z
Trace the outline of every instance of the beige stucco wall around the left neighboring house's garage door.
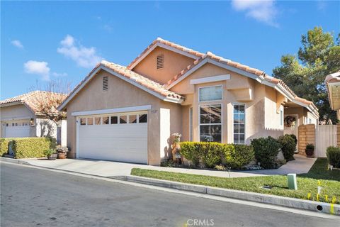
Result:
M4 135L4 127L3 124L11 121L30 121L33 118L35 121L35 114L33 114L30 109L28 109L24 104L18 104L13 106L4 106L0 109L0 121L1 121L1 129L0 129L0 137ZM36 136L36 127L30 127L30 136Z

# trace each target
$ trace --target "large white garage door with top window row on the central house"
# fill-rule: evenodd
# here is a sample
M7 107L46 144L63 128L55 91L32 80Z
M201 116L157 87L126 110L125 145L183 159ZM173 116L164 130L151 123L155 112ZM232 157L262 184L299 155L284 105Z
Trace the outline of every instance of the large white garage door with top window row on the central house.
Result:
M147 113L81 116L79 157L147 164Z

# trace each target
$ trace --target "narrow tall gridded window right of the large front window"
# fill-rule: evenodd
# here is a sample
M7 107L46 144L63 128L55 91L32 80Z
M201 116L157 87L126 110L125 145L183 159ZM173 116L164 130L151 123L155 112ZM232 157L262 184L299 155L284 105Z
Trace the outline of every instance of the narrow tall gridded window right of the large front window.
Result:
M245 117L244 104L234 104L234 143L244 143Z

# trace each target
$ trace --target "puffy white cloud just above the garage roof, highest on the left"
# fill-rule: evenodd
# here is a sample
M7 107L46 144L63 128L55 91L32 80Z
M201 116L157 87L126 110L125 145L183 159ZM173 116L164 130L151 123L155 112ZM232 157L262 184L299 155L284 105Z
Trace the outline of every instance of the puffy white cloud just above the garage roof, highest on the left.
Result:
M67 35L64 40L60 42L61 48L57 48L57 52L69 57L81 67L94 67L103 58L98 56L96 48L86 48L80 43L76 43L76 40L72 35Z

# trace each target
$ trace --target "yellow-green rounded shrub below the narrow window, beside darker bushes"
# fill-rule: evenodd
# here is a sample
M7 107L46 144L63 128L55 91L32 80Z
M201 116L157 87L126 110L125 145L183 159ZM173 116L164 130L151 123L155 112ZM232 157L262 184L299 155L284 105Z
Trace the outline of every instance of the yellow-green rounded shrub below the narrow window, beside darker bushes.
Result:
M233 170L241 169L254 160L254 149L249 145L225 144L223 151L225 165Z

